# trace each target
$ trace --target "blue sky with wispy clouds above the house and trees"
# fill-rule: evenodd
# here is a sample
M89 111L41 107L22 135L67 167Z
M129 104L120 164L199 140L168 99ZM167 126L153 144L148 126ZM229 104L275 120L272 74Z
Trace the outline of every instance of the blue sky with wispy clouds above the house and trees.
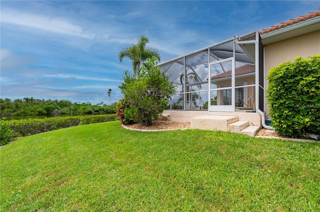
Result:
M103 101L141 35L161 62L316 11L320 1L0 1L0 97Z

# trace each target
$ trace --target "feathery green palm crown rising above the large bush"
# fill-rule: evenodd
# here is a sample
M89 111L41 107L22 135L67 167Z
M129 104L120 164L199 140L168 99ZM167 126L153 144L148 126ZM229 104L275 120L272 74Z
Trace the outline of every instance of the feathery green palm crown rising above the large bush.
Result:
M145 48L145 44L148 42L149 39L147 37L141 36L136 45L132 45L129 48L123 48L118 55L120 62L122 62L124 57L132 60L133 73L137 78L139 77L140 66L146 59L154 56L155 59L160 61L158 50L154 48Z

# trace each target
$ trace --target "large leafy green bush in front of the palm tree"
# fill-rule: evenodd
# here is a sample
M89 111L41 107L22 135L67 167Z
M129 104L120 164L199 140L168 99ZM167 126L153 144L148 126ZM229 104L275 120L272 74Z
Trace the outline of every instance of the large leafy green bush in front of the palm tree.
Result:
M123 111L124 117L132 117L143 126L152 124L152 120L163 112L169 96L175 92L175 86L160 71L154 57L142 65L138 78L126 71L119 88L130 104Z

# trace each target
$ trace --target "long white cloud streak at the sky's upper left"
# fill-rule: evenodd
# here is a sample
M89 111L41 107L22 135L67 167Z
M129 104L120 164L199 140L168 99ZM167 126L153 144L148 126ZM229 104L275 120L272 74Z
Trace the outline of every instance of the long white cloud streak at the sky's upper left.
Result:
M21 25L40 30L92 38L93 35L85 33L82 27L69 23L66 20L51 18L44 15L23 13L15 10L1 11L1 23Z

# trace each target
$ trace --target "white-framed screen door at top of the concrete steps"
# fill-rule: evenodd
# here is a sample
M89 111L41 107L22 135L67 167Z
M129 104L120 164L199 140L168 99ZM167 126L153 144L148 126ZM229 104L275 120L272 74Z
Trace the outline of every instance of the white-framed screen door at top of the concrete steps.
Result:
M209 111L234 111L234 59L209 63ZM231 85L225 87L224 85Z

